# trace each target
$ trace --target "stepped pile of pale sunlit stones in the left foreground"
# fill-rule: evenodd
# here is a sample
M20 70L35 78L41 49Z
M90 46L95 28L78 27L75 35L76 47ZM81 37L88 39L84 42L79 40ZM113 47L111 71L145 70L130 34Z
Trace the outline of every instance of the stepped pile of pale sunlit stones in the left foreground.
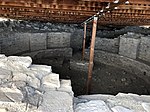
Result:
M70 80L28 56L0 55L0 112L72 112Z

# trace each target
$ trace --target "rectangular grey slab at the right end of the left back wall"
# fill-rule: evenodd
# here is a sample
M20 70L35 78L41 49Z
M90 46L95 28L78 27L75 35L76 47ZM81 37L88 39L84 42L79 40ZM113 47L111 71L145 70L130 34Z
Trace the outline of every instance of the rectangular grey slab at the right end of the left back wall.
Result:
M48 33L48 48L70 47L70 33Z

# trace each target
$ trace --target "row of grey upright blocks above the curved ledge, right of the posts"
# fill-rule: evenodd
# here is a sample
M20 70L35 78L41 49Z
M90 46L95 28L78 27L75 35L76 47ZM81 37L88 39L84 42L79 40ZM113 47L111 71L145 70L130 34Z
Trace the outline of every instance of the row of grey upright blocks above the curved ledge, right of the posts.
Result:
M128 32L114 39L96 38L95 49L150 62L150 36Z

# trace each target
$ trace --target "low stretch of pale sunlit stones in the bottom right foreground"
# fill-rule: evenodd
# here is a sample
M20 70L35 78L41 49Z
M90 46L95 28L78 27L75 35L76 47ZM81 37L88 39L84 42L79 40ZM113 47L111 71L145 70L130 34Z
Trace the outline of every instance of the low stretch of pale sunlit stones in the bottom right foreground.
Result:
M75 99L75 112L150 112L150 96L84 95Z

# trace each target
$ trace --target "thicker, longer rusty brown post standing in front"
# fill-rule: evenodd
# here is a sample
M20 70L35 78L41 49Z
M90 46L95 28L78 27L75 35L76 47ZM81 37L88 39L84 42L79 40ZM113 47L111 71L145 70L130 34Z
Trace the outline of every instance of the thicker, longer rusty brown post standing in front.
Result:
M86 94L90 94L90 91L91 91L91 81L92 81L92 71L93 71L94 47L95 47L97 20L98 20L98 17L94 17L93 30L92 30L92 39L91 39L91 46L90 46L90 59L89 59Z

